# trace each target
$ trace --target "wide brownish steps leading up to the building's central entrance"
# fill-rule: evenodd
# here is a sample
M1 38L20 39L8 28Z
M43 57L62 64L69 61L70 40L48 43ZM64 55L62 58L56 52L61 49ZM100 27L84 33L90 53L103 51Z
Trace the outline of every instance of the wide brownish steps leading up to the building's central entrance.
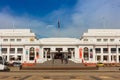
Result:
M93 66L86 67L82 63L74 63L73 61L68 61L68 64L62 64L60 59L56 59L54 64L50 60L44 63L37 63L34 66L22 66L22 70L98 70L98 68Z

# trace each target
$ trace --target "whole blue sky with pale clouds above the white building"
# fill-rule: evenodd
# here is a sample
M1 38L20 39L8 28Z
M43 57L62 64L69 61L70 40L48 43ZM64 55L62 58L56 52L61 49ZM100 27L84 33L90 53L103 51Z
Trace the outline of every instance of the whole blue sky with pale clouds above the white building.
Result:
M0 28L74 38L88 29L119 29L120 0L0 0Z

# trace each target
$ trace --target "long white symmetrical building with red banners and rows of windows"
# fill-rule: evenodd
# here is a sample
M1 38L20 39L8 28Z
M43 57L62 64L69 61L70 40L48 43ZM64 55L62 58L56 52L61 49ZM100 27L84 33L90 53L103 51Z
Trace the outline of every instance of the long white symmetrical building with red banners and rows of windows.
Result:
M30 29L0 29L0 55L7 61L43 63L63 53L76 63L120 63L120 29L89 29L80 39L37 39Z

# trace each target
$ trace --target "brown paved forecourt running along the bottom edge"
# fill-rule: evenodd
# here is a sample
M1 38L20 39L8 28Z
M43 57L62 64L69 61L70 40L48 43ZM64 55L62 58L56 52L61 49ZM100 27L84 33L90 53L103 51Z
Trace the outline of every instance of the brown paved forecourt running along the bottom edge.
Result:
M0 72L0 80L119 80L120 72L18 71Z

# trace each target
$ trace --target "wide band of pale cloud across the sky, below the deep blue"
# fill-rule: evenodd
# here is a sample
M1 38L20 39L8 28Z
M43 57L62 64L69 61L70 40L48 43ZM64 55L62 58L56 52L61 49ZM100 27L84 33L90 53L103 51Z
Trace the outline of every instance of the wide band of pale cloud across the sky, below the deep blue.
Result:
M0 28L13 28L14 23L15 28L30 28L43 37L80 38L91 28L120 28L120 0L78 0L73 8L54 10L42 19L32 18L29 14L16 16L9 11L5 8L0 12Z

